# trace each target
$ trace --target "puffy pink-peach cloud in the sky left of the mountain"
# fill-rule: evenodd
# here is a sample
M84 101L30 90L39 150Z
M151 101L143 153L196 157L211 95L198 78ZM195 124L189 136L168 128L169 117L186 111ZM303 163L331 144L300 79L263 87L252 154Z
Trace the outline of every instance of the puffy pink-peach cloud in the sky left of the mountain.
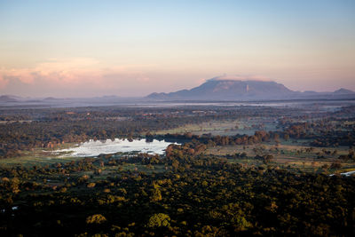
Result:
M149 77L141 69L150 66L124 65L107 67L97 59L49 59L38 63L35 67L0 68L0 89L6 90L16 81L37 86L37 91L51 87L81 91L83 88L96 90L112 90L131 87L134 83L147 83ZM34 90L34 89L33 89Z

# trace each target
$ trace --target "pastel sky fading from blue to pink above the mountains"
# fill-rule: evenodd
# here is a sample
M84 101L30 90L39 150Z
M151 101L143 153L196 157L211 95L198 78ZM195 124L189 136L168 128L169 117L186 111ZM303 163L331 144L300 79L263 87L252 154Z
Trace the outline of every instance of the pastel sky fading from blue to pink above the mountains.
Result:
M355 91L355 1L0 0L0 95L138 97L225 74Z

